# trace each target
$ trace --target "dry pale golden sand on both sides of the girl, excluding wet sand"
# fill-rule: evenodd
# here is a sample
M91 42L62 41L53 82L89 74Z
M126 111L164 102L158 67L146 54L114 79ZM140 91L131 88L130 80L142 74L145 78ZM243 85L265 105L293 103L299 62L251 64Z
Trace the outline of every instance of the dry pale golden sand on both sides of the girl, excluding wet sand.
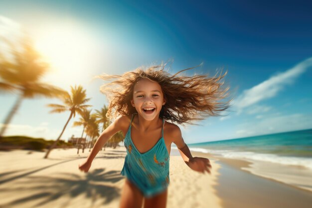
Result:
M126 149L100 151L89 172L80 172L78 164L88 154L56 149L43 159L43 152L0 152L0 207L118 208ZM167 208L221 208L214 189L220 165L214 160L211 165L211 175L202 174L189 169L180 156L170 156Z

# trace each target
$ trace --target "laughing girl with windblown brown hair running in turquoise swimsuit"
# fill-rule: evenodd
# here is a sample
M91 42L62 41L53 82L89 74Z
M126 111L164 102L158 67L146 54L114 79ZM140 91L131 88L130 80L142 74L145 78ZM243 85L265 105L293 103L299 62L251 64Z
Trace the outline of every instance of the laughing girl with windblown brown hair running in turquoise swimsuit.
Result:
M217 102L227 96L228 88L222 90L223 82L219 82L226 73L219 77L188 77L179 75L182 71L171 75L160 65L121 76L100 76L104 80L117 79L101 90L110 100L107 115L114 110L114 116L119 116L103 131L79 169L88 172L100 149L122 131L127 156L121 171L126 181L120 208L141 208L143 203L144 208L165 208L172 143L190 169L210 174L209 160L192 157L179 127L168 121L191 124L227 109L230 101Z

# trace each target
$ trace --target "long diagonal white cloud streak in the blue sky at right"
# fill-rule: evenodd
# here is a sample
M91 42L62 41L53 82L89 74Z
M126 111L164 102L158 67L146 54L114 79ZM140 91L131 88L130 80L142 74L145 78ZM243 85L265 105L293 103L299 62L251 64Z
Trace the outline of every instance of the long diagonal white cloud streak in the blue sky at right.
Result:
M233 100L233 108L240 114L244 108L276 96L286 85L292 84L309 67L312 67L312 57L250 89L244 90L241 95Z

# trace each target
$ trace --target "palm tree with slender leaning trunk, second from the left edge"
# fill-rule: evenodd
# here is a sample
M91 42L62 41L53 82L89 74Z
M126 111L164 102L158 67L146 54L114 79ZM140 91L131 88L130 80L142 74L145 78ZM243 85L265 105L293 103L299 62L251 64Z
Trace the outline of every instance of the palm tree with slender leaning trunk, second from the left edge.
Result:
M86 98L86 96L87 96L86 90L84 90L81 85L79 85L78 87L75 86L75 88L73 88L71 86L71 94L66 93L65 96L61 98L64 105L59 105L59 104L49 104L48 105L49 107L54 108L53 110L50 111L51 113L62 113L65 111L70 111L70 115L69 115L69 118L68 118L60 136L56 139L56 141L53 143L53 145L50 146L50 148L47 151L44 158L47 158L50 151L56 146L56 144L59 141L59 139L61 138L68 122L70 121L70 119L72 117L76 116L76 112L79 114L82 114L83 110L86 110L86 108L91 106L91 105L85 105L85 103L90 100L90 98Z

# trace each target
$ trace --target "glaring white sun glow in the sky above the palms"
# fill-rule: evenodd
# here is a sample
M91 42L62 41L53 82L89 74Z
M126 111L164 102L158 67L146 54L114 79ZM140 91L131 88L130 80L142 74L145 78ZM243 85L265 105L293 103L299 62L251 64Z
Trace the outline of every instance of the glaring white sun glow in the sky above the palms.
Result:
M82 29L55 25L40 31L34 43L50 65L50 81L79 84L92 70L96 47L94 39Z

